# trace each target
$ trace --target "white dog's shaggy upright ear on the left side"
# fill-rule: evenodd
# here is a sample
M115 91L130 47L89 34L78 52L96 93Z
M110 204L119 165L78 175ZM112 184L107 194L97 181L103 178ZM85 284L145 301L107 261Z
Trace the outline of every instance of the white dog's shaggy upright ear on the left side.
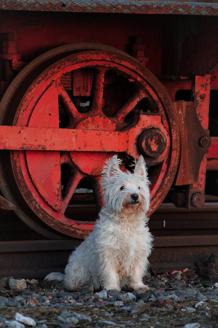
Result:
M112 182L115 177L120 175L122 171L119 168L119 165L122 163L122 160L117 158L117 155L110 157L106 162L105 166L103 167L102 171L102 183L107 184Z

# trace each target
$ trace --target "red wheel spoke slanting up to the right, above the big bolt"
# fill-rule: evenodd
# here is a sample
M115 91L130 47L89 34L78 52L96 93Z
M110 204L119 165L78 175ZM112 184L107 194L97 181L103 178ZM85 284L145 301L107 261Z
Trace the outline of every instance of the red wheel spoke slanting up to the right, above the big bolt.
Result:
M113 119L121 124L124 123L126 115L130 113L144 97L146 97L146 93L143 90L133 93L126 103L115 113Z

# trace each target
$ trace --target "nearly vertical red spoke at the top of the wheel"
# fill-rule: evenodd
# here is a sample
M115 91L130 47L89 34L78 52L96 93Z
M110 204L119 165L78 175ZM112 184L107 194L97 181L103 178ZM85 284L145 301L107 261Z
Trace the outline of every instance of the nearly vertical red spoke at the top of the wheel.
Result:
M98 68L94 74L91 113L102 114L105 72L105 68Z

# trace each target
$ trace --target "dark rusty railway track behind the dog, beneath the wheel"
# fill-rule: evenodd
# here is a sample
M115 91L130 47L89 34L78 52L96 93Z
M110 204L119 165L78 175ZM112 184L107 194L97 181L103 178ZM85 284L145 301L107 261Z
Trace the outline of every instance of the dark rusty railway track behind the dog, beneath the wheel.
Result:
M211 253L218 252L218 197L206 196L198 210L178 209L162 203L149 221L154 235L150 264L163 273L196 269ZM69 217L92 221L96 208L92 194L76 195L68 209ZM27 227L14 213L0 215L0 277L43 278L52 271L63 271L71 251L81 239L49 240Z

